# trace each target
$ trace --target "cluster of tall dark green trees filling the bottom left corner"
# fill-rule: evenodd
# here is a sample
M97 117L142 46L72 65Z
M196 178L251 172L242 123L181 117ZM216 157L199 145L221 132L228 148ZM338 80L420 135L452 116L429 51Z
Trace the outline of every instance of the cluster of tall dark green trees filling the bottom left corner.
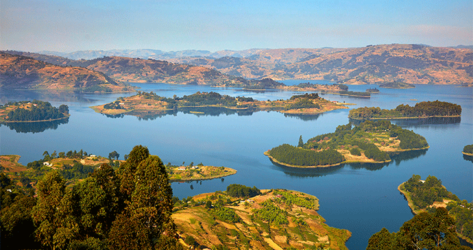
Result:
M71 188L51 171L38 182L37 198L0 179L2 247L182 249L165 166L146 147L134 147L117 171L102 164Z

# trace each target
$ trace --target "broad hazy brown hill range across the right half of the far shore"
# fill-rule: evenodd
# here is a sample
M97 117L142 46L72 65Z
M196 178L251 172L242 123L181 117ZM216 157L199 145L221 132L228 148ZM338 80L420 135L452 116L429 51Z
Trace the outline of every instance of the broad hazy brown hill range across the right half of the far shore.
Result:
M305 57L304 57L305 55ZM343 84L471 84L473 51L424 45L351 49L268 49L245 58L176 58L240 77L326 79Z

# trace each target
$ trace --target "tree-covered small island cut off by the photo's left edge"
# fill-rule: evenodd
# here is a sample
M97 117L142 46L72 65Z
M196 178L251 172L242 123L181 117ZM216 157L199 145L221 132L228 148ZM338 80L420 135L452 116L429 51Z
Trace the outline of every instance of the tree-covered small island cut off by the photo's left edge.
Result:
M56 108L47 101L10 101L0 105L1 123L56 121L69 116L67 105Z

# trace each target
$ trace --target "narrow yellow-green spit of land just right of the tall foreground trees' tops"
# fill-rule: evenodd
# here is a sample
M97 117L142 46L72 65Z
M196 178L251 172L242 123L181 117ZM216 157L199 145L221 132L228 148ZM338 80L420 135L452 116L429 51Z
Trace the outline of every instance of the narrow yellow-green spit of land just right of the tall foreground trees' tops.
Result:
M226 168L225 166L204 166L202 163L197 164L196 166L194 166L192 162L189 166L169 165L166 166L166 172L169 175L169 181L171 182L215 179L237 173L233 168Z

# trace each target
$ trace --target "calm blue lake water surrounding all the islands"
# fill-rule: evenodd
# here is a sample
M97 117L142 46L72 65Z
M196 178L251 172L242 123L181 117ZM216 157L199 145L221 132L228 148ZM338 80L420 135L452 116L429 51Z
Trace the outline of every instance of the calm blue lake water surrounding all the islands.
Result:
M324 81L284 81L327 83ZM258 100L288 99L295 92L249 92L235 88L208 86L174 86L166 84L135 84L141 90L172 97L191 95L197 91L215 91L233 97L245 96ZM349 90L365 91L375 85L350 86ZM173 183L175 196L197 195L202 192L226 190L229 184L244 184L257 188L287 188L315 195L320 210L332 227L350 230L349 249L365 249L369 236L386 227L389 232L412 218L407 201L397 190L413 174L435 175L448 190L460 199L473 200L473 164L464 160L461 151L473 143L472 88L455 86L416 86L409 90L380 88L369 99L322 95L330 100L356 103L350 108L396 108L400 103L415 105L418 101L448 101L461 105L461 121L455 123L417 124L395 121L404 128L424 136L430 149L425 152L401 155L383 165L347 164L326 171L297 171L271 164L263 152L283 143L297 145L319 134L334 132L338 125L348 123L349 110L335 110L319 116L301 118L278 112L254 112L251 115L219 114L165 115L150 119L135 116L109 118L88 108L114 101L128 94L76 95L51 92L0 92L0 103L25 99L50 101L58 106L69 105L71 117L66 124L45 125L37 132L17 132L5 125L0 127L0 154L21 155L27 164L43 158L45 150L69 151L84 149L88 153L108 156L111 151L123 155L135 145L147 146L162 162L228 166L238 171L223 179L202 182ZM300 94L300 93L299 93ZM417 101L413 101L417 99ZM191 185L192 188L191 189Z

